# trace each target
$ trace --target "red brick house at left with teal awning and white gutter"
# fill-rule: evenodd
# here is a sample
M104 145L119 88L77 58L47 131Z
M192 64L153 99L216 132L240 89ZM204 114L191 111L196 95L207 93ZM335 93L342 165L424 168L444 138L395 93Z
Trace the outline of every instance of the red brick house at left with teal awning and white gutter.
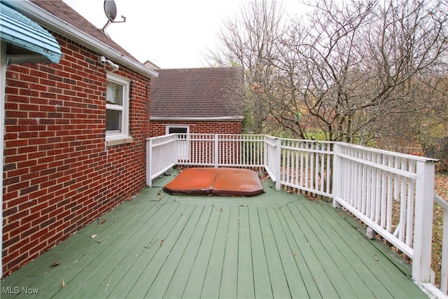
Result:
M1 7L4 277L144 188L158 73L62 1ZM56 57L8 37L6 25L43 29Z

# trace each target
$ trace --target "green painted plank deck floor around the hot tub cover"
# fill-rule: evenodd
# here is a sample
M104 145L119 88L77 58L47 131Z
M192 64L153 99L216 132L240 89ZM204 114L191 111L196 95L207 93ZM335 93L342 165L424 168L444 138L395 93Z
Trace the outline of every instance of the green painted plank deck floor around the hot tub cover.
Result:
M427 298L408 265L326 202L271 181L255 197L161 192L172 179L3 279L1 298Z

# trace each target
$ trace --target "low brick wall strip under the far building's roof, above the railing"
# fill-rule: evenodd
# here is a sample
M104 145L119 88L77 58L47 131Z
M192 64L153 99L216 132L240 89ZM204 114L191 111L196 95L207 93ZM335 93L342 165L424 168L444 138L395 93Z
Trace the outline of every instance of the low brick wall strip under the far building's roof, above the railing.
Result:
M151 137L165 135L166 125L190 125L190 133L241 134L241 122L201 121L186 123L151 121Z

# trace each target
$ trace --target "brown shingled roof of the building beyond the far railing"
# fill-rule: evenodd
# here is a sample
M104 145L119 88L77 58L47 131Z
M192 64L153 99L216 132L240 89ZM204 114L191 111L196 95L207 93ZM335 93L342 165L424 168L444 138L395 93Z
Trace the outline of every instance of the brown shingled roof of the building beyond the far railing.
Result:
M158 69L151 81L150 120L242 121L243 69Z

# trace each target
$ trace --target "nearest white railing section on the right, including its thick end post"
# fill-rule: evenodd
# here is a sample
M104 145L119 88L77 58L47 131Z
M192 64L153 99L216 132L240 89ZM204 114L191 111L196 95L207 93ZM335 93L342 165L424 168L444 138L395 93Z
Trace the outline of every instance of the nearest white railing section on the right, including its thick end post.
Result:
M344 143L333 159L333 205L412 258L415 281L430 281L433 159Z

